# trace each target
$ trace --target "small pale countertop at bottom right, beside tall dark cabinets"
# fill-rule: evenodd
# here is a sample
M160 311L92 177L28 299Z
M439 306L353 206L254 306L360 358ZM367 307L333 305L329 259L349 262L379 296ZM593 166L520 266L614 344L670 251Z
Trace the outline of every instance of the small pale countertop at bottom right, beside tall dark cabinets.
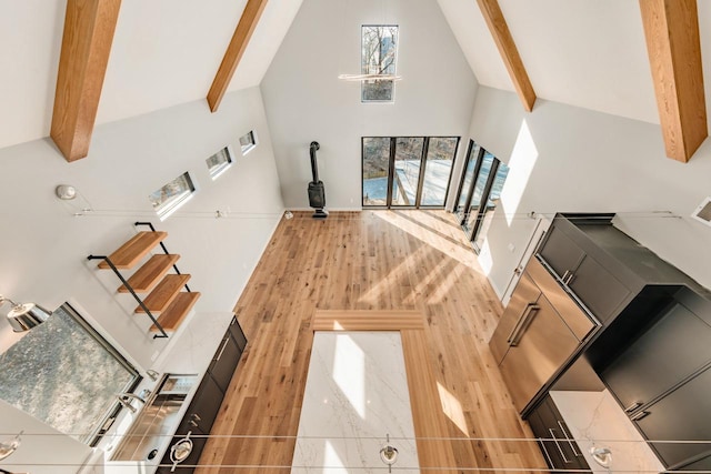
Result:
M607 390L550 392L585 461L594 473L660 473L664 466ZM599 465L591 448L612 453L610 467Z

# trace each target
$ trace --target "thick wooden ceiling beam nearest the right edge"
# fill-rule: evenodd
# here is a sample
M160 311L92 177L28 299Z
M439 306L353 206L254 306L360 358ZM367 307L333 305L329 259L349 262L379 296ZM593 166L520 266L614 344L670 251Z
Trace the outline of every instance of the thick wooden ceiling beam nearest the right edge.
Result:
M640 0L667 157L689 161L709 135L697 0Z

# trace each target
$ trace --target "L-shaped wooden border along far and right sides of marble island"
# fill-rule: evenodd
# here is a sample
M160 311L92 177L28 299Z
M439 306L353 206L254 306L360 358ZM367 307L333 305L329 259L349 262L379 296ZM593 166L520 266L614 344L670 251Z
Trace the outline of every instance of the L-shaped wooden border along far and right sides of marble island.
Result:
M420 470L457 470L457 457L449 441L450 432L441 409L437 376L430 362L424 322L424 316L418 311L317 310L311 326L313 331L399 331Z

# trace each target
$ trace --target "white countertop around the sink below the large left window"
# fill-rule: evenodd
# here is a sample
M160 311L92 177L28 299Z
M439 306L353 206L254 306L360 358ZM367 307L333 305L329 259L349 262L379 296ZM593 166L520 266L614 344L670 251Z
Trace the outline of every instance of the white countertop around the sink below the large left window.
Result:
M144 379L134 392L138 393L143 389L156 390L164 373L197 374L198 382L191 389L181 406L178 417L180 420L188 410L188 405L198 389L199 381L208 370L212 356L232 321L232 316L231 312L194 313L189 322L173 334L172 341L156 360L153 367L151 367L160 373L158 380ZM170 437L166 440L164 446L161 446L158 455L152 461L108 461L113 453L114 446L120 443L123 434L130 428L134 417L136 414L130 413L128 410L122 410L111 430L104 435L99 444L101 450L97 450L103 465L100 466L100 471L96 471L97 473L146 474L147 472L153 472L160 463L170 444ZM90 460L94 464L97 461L99 460ZM81 471L82 474L91 474L93 472L90 468Z

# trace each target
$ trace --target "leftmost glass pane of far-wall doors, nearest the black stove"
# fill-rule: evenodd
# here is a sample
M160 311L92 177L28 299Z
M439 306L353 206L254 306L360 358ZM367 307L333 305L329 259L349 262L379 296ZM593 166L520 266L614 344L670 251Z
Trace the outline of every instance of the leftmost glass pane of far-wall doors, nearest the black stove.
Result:
M388 200L390 139L363 138L363 205L385 205Z

